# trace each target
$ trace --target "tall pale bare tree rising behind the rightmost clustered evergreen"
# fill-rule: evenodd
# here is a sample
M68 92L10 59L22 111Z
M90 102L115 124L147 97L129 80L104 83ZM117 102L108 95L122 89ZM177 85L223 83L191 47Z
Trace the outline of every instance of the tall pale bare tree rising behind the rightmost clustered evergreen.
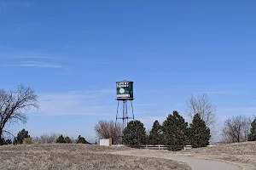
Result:
M207 93L198 94L197 98L191 95L186 102L187 116L193 119L196 114L199 114L204 122L206 122L207 127L210 128L211 134L214 135L218 133L217 130L217 116L216 106L212 105L212 102L208 98Z

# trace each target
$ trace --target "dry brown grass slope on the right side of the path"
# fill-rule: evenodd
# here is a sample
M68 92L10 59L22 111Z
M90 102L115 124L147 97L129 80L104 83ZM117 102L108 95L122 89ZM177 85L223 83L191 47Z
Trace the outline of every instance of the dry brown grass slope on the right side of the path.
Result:
M145 150L140 154L158 156L193 156L201 159L224 161L241 167L243 170L256 170L256 142L223 144L192 150L172 152L168 150Z

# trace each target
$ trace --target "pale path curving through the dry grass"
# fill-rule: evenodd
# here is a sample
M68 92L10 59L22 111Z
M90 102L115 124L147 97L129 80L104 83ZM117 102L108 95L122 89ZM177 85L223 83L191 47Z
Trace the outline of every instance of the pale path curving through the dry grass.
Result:
M235 167L228 163L221 161L209 161L197 158L192 158L189 156L154 156L154 155L140 155L138 152L141 150L126 150L126 151L115 151L110 154L117 154L122 156L143 156L143 157L155 157L163 158L172 161L182 161L189 165L192 170L241 170L239 167Z

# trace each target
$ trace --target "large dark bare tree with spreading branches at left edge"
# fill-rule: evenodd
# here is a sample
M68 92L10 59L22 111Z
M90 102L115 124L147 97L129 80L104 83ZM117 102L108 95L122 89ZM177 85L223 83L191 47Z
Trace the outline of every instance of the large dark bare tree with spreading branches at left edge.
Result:
M4 130L7 124L26 123L26 111L33 108L38 109L38 96L32 88L20 84L15 91L0 89L0 139L3 133L9 133Z

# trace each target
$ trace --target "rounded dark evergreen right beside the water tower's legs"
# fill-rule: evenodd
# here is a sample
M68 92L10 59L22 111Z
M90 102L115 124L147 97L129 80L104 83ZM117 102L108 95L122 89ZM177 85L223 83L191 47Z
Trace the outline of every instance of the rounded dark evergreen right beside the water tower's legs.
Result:
M131 121L124 129L124 143L133 146L145 144L146 128L140 121Z

